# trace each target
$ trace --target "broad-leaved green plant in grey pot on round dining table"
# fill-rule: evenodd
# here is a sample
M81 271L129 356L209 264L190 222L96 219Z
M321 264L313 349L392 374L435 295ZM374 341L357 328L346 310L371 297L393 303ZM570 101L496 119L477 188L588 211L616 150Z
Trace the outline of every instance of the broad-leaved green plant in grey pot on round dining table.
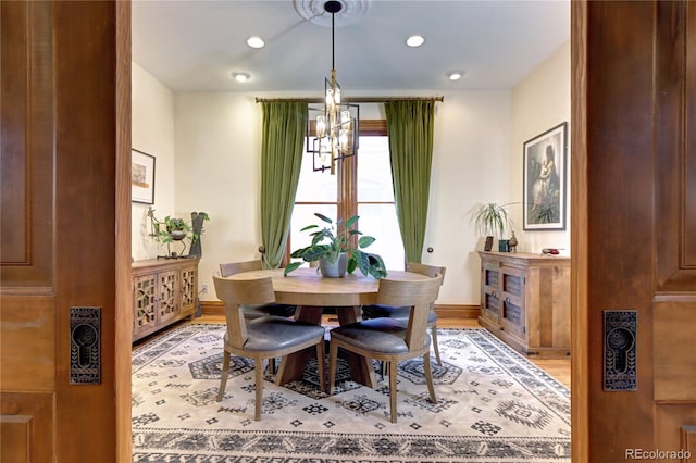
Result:
M353 228L360 218L358 215L353 215L345 223L337 221L335 225L323 214L316 212L314 215L328 225L308 225L302 228L300 232L310 232L312 242L306 248L293 251L291 258L301 259L303 262L319 262L320 271L326 277L343 277L346 272L352 274L356 268L360 268L364 276L384 278L387 275L382 258L363 251L375 241L375 238ZM287 276L303 262L290 262L285 267L284 274Z

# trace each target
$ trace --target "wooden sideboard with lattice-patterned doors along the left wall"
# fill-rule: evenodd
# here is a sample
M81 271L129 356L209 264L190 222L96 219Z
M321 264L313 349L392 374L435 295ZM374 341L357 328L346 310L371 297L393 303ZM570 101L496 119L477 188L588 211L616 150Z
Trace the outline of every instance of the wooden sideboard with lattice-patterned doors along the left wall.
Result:
M152 259L133 263L133 340L184 317L198 301L198 259Z

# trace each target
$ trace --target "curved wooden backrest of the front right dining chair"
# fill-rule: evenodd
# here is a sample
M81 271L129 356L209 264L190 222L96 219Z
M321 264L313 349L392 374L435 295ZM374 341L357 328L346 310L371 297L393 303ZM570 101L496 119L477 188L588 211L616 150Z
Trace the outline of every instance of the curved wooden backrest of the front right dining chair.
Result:
M411 315L406 331L409 350L417 350L425 343L427 313L439 295L443 274L436 273L427 279L397 280L382 278L377 291L377 304L411 306Z

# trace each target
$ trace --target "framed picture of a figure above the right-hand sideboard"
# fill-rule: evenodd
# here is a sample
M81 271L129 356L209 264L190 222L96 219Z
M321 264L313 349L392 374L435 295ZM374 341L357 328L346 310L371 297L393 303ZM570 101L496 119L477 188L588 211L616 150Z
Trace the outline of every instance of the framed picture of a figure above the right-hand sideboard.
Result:
M567 122L524 142L525 230L566 229L567 151Z

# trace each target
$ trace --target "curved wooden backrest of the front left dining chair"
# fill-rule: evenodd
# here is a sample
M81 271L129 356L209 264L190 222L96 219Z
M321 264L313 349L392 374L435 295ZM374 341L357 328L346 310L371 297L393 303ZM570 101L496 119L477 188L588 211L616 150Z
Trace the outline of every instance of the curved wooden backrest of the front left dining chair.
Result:
M225 304L227 338L231 346L243 349L247 342L247 325L239 305L270 304L275 302L271 277L253 279L227 279L213 275L215 295Z

